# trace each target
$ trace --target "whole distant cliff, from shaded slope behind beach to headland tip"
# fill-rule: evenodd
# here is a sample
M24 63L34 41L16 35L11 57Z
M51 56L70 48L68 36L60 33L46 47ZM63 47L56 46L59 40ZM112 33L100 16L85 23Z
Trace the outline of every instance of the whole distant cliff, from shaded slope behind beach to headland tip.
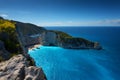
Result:
M30 23L14 22L25 51L36 44L58 46L66 49L102 49L98 42L76 38L62 31L46 30Z

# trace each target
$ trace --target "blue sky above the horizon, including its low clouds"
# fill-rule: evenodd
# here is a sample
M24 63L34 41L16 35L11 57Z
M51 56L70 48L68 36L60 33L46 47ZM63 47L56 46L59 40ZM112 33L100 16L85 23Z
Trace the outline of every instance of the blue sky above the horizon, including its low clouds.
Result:
M120 26L120 0L0 0L0 16L39 26Z

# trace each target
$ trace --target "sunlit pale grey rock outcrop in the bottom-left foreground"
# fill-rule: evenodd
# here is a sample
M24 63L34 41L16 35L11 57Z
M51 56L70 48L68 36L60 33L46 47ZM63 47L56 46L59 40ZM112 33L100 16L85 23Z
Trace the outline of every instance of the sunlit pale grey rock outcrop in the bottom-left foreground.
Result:
M46 80L41 68L30 66L23 55L0 63L0 80Z

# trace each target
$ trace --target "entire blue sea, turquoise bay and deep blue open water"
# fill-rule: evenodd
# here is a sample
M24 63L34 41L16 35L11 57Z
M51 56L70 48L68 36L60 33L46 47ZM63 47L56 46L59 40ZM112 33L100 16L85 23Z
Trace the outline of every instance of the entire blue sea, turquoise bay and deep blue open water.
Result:
M120 80L120 27L47 27L99 42L104 50L30 50L48 80Z

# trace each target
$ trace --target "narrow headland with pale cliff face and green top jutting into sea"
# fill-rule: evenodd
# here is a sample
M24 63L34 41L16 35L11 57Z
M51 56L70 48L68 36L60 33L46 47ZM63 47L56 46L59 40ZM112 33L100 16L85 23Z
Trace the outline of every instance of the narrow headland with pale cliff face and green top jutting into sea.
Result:
M102 49L98 42L72 37L67 33L53 30L48 30L42 34L42 45L58 46L67 49Z

